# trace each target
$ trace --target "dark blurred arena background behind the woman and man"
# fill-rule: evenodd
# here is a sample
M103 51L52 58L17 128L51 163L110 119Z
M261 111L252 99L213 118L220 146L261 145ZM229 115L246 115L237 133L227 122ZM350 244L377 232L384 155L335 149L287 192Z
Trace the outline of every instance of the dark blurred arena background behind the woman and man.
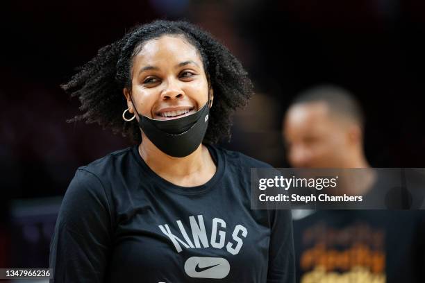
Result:
M376 167L424 167L425 2L421 0L24 1L2 4L0 267L47 268L60 200L78 166L129 146L97 125L66 123L78 101L59 87L138 23L188 19L240 58L258 95L230 142L285 167L281 119L308 87L333 83L366 114Z

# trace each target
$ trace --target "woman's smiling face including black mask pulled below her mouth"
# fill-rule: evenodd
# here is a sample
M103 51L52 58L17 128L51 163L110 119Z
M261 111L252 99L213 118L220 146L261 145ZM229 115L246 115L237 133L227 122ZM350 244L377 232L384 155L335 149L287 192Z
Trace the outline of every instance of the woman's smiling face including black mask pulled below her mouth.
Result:
M181 36L162 35L134 56L136 75L131 89L124 88L128 112L137 114L142 137L147 135L167 155L189 155L206 132L214 96L202 65L197 49Z

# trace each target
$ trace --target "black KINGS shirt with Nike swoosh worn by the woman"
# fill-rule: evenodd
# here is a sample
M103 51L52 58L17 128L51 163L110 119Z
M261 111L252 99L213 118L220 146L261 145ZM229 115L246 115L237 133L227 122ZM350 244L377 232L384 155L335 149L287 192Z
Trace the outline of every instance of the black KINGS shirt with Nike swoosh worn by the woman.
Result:
M51 282L294 282L288 210L250 209L250 168L269 165L208 146L213 178L180 187L137 146L82 166L51 241Z

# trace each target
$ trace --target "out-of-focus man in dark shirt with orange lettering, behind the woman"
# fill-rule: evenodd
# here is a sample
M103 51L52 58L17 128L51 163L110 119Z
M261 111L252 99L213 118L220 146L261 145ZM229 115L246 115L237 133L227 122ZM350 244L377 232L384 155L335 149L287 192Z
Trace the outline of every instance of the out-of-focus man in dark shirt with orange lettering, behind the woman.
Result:
M368 168L364 125L363 111L347 90L333 85L308 89L294 100L283 119L288 162L301 168ZM375 174L368 174L356 184L356 194L369 194L378 189L378 183ZM425 282L421 214L385 210L294 213L297 281Z

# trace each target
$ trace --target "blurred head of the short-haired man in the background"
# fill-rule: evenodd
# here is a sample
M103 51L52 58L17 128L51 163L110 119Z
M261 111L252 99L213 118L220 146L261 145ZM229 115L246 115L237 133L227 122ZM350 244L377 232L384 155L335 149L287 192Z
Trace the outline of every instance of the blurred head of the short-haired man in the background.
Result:
M344 89L320 86L298 96L284 121L288 160L294 167L364 168L364 115Z

